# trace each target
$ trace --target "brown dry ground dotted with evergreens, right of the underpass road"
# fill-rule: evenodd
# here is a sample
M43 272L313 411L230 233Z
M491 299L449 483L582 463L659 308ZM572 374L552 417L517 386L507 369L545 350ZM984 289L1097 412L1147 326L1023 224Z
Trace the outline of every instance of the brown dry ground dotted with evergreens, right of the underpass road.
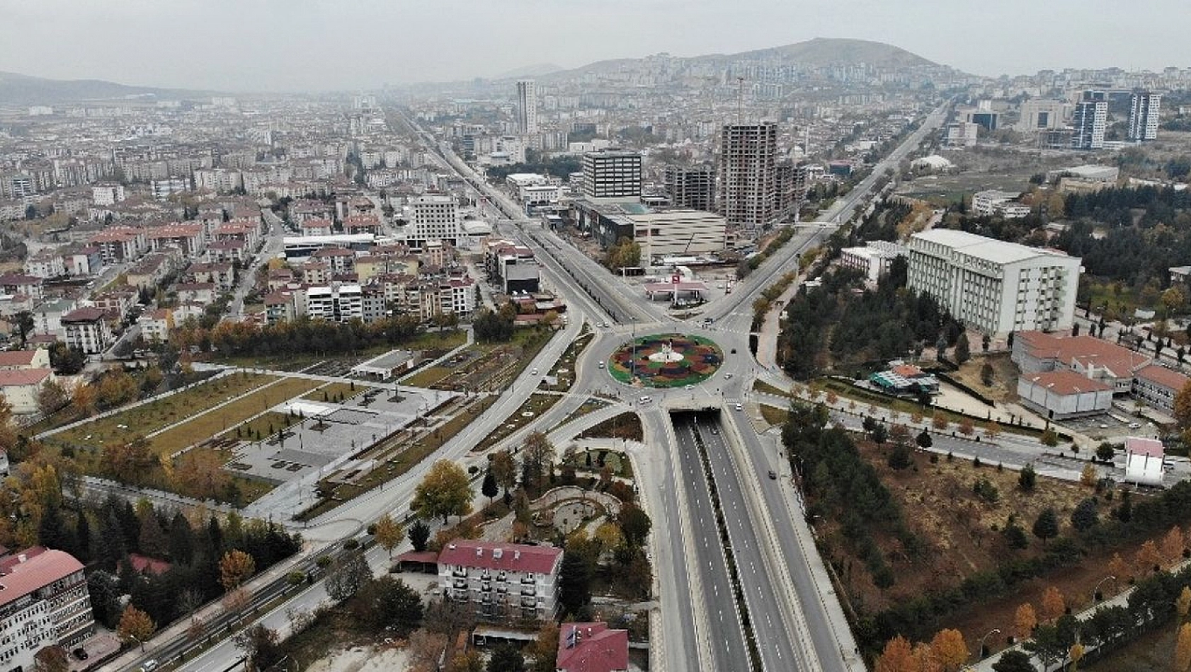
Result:
M843 551L838 526L834 521L818 525L833 549L831 559L840 570L843 592L854 609L869 615L925 592L956 586L974 572L993 570L1006 560L1041 555L1042 542L1031 534L1039 513L1047 507L1054 508L1059 534L1074 536L1071 513L1081 500L1095 495L1090 486L1041 476L1033 492L1023 492L1017 485L1016 471L998 470L996 465L987 464L975 467L971 461L948 460L944 456L939 456L937 463L933 464L927 453L916 453L912 467L894 471L886 461L887 444L885 448L879 448L872 442L860 441L859 448L900 503L908 527L927 547L917 557L910 557L898 540L878 539L896 576L894 585L881 590L873 583L863 559ZM997 489L996 502L973 492L973 484L980 478ZM1134 494L1134 502L1140 496L1143 495ZM1117 503L1104 500L1102 496L1098 507L1102 519L1108 517L1110 508ZM1011 548L1000 534L1010 515L1024 528L1028 548ZM1118 551L1125 560L1131 560L1135 546ZM1017 607L1030 602L1037 609L1048 586L1058 588L1073 609L1089 607L1095 585L1109 573L1106 567L1111 554L1112 551L1096 552L1078 566L1058 570L1045 579L1022 582L1003 597L961 609L944 627L959 628L972 648L985 633L1000 628L1002 635L996 638L997 641L987 641L990 648L999 649L1005 645L1004 636L1012 630ZM1105 594L1124 588L1123 580L1103 585Z

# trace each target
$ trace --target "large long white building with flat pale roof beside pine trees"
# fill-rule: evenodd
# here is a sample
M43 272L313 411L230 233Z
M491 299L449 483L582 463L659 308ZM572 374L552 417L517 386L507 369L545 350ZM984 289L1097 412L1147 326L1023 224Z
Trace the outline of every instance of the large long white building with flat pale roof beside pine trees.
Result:
M1080 259L966 233L931 230L908 245L909 287L987 334L1070 329Z

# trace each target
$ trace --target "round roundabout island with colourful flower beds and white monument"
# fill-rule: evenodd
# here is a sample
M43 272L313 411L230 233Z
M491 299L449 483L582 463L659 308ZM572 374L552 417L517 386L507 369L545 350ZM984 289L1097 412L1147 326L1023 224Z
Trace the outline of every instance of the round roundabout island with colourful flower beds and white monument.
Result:
M724 362L711 339L690 334L656 334L632 339L607 360L617 381L647 388L680 388L710 378Z

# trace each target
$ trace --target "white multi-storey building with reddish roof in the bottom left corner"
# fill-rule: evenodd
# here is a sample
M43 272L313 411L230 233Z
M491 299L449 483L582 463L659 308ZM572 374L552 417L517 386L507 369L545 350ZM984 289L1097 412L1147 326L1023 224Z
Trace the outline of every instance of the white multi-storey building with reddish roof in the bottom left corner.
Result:
M82 563L35 546L0 559L0 670L33 670L48 646L67 651L95 630Z

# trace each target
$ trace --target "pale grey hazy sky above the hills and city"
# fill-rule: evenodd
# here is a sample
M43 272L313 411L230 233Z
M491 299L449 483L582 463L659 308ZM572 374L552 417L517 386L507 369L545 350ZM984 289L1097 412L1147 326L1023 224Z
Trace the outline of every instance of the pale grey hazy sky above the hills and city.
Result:
M848 37L981 74L1191 65L1186 0L0 0L0 70L355 89Z

